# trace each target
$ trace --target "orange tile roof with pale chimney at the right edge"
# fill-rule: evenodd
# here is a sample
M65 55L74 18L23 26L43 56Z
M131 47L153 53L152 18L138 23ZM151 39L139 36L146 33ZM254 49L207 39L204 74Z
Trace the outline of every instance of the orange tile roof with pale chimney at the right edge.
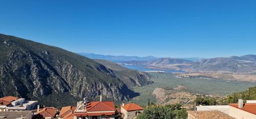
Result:
M229 106L238 108L238 103L229 104ZM245 103L241 110L256 114L256 103Z

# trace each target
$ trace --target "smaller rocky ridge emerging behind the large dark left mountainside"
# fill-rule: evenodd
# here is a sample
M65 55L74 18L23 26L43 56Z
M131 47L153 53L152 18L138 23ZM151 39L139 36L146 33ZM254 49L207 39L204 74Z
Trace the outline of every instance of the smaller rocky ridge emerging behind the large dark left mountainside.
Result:
M119 79L125 79L123 82L128 86L144 86L147 84L152 84L151 75L145 72L140 72L138 70L131 70L125 68L119 64L107 61L107 60L95 60L104 66L113 69L114 74Z

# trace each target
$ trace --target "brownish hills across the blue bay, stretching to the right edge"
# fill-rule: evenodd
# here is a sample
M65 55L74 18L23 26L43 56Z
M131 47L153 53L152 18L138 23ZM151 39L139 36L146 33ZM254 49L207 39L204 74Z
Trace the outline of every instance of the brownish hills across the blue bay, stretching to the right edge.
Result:
M152 61L122 61L121 65L141 65L151 69L174 69L187 72L256 73L256 55L232 56L190 61L177 58L160 58Z

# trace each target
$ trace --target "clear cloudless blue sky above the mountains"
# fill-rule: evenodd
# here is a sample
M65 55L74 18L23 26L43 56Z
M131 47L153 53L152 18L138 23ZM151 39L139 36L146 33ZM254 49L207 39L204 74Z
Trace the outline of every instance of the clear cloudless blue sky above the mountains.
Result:
M1 1L0 33L71 52L256 54L256 1Z

